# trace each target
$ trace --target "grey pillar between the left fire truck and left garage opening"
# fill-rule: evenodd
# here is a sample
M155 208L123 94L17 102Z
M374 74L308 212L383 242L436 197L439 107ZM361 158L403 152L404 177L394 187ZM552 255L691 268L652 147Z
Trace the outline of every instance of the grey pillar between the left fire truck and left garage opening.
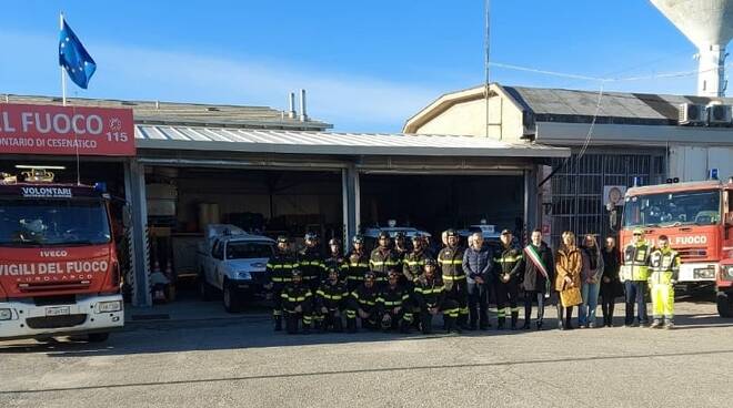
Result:
M132 265L132 305L151 306L150 253L148 243L148 206L145 198L144 165L134 159L124 164L125 200L131 213L130 253Z

